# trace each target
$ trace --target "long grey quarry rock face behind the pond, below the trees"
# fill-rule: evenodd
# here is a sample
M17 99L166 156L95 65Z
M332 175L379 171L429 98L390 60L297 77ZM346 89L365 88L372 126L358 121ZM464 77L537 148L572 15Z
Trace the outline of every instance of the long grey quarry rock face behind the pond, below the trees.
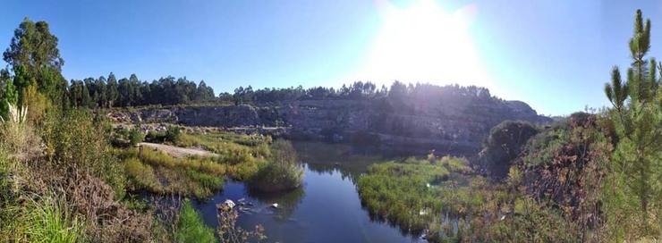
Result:
M119 121L175 122L187 126L287 127L291 138L378 144L421 153L435 149L439 154L450 155L478 152L488 131L501 121L551 121L523 102L494 98L453 102L301 100L264 106L146 108L109 116Z

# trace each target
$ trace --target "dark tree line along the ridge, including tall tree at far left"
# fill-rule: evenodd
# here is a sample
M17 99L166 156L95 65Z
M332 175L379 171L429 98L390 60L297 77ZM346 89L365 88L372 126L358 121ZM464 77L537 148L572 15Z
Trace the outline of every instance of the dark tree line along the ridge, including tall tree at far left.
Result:
M356 81L341 88L259 88L239 87L232 94L220 93L205 81L197 84L186 77L172 76L139 80L135 74L117 79L114 73L84 80L64 79L64 58L57 48L58 39L45 21L24 19L14 31L4 51L7 68L0 70L0 114L12 105L58 105L62 107L110 108L137 105L180 105L192 103L273 104L295 100L384 100L403 103L411 100L495 99L487 88L458 85L439 87L431 84L404 84L390 87ZM36 103L36 104L35 104Z

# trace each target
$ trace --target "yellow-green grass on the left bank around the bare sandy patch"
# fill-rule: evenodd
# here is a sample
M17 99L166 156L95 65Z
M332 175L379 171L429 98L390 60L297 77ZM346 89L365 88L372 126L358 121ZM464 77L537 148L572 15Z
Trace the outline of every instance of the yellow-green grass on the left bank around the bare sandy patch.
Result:
M124 162L130 190L209 197L222 189L225 176L250 180L270 163L269 137L222 131L179 137L176 146L203 147L217 156L175 158L147 147L115 148L113 152Z

